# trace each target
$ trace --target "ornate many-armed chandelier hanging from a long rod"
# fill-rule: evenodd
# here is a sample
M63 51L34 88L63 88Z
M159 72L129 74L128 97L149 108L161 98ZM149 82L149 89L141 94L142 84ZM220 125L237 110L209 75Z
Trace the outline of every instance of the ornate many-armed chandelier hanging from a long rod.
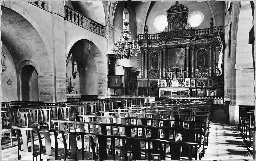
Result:
M138 40L135 44L135 40L131 41L131 32L128 31L127 26L129 22L126 21L126 1L125 1L125 29L121 32L121 37L117 43L113 44L112 53L115 54L116 59L121 59L123 56L125 58L130 58L130 56L138 56L140 53L140 46L138 45Z

